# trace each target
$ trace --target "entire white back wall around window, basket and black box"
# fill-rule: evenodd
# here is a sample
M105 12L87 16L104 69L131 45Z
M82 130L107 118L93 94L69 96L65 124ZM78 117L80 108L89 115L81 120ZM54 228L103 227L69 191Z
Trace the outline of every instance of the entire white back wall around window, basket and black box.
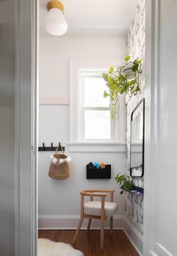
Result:
M124 38L40 38L40 98L69 97L69 61L71 59L123 59ZM124 198L119 195L114 176L125 171L125 152L68 152L69 106L40 105L39 144L62 142L71 155L71 178L63 181L48 175L50 152L39 152L39 215L79 215L80 190L115 188L118 214L124 213ZM86 164L105 161L112 164L112 179L87 180ZM40 227L43 226L40 221Z

